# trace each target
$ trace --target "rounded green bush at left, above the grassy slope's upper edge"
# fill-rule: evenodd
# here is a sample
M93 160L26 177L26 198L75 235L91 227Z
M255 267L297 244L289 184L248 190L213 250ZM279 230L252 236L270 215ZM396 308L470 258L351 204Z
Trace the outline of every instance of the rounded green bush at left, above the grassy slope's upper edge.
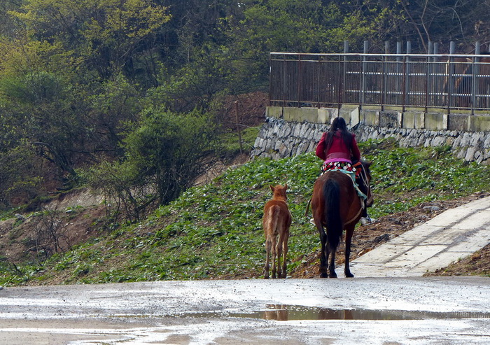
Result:
M206 171L215 140L212 123L197 111L184 115L150 108L127 133L125 162L155 182L160 204L175 199Z

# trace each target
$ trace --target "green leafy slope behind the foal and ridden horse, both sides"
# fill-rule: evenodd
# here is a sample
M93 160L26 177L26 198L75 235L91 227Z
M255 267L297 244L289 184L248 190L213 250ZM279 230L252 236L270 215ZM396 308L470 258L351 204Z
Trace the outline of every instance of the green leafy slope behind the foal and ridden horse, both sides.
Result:
M449 148L398 148L391 140L361 144L373 161L374 218L421 202L488 191L487 167L456 160ZM305 217L320 160L313 153L258 159L192 188L137 225L118 227L43 265L4 262L0 284L108 283L162 279L260 277L265 257L262 207L269 184L288 183L293 213L288 272L319 248Z

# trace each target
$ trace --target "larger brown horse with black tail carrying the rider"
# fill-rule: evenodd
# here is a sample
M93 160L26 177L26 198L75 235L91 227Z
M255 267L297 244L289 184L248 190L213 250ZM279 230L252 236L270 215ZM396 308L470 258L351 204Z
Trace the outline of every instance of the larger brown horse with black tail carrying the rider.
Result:
M362 162L365 185L369 186L371 163ZM367 188L367 206L372 204L370 188ZM320 233L321 255L320 276L337 278L335 274L335 252L342 240L342 232L345 229L345 268L344 273L352 278L349 268L349 256L351 255L351 240L354 227L358 223L363 212L363 200L358 196L350 176L341 171L330 170L318 177L315 182L313 197L311 198L311 211ZM325 233L326 229L326 233ZM328 258L331 254L330 264ZM327 272L328 265L328 272ZM328 273L328 274L327 274Z

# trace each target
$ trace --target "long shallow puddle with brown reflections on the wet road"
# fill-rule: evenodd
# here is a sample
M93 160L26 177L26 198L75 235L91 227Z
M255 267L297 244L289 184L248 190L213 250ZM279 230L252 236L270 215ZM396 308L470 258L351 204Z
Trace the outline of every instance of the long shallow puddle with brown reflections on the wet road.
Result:
M426 320L426 319L462 319L462 318L490 318L490 313L477 313L467 311L436 312L436 311L404 311L404 310L369 310L369 309L325 309L318 307L304 307L297 305L267 305L264 311L252 313L200 313L187 314L195 318L205 317L235 317L235 318L261 318L276 321L301 320Z

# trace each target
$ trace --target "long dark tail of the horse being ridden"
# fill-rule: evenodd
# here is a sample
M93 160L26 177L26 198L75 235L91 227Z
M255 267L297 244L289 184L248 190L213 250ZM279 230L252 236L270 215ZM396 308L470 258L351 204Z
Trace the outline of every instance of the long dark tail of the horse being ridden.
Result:
M342 220L340 219L340 187L337 181L327 180L323 186L325 199L325 224L330 251L336 251L342 238Z

